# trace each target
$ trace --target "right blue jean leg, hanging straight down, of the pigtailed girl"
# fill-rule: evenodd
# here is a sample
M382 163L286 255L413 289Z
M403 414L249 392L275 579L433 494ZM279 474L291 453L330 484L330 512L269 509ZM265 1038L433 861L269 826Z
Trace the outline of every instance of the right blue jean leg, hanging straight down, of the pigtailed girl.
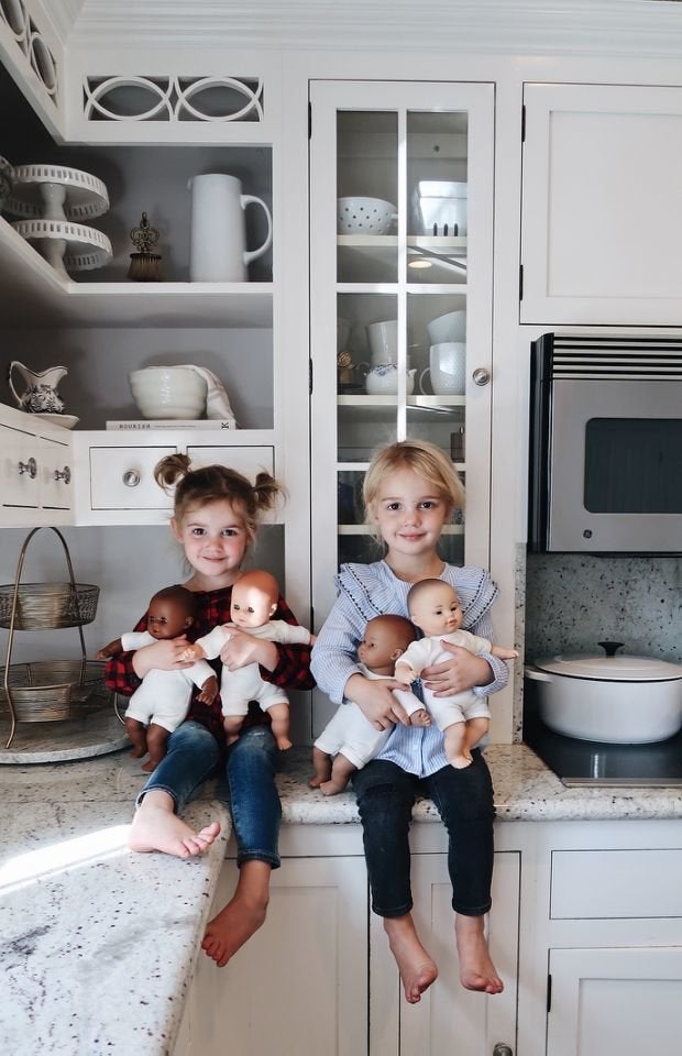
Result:
M228 749L230 811L237 865L256 859L279 868L282 804L275 785L279 752L268 726L250 726Z

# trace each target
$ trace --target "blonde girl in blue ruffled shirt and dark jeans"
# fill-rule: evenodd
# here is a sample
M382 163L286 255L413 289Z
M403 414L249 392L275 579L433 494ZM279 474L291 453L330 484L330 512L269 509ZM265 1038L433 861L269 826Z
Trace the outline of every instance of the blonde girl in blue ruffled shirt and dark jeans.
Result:
M414 1004L438 976L415 927L409 883L411 809L418 793L430 796L449 836L461 983L470 990L499 993L503 983L484 934L484 915L491 908L495 814L485 760L474 748L469 767L450 766L436 724L407 724L393 693L400 683L370 681L356 662L366 622L384 613L408 616L408 591L427 579L450 583L464 610L463 626L494 640L491 608L497 587L483 569L448 564L438 552L441 529L462 508L464 490L452 463L436 446L405 440L384 448L367 469L363 498L367 519L383 541L384 557L372 564L342 565L337 601L312 650L311 670L331 701L354 702L377 729L393 726L380 755L353 776L372 908L384 919L405 997ZM437 696L472 688L483 696L506 684L503 660L487 653L476 657L458 646L444 648L450 659L421 674Z

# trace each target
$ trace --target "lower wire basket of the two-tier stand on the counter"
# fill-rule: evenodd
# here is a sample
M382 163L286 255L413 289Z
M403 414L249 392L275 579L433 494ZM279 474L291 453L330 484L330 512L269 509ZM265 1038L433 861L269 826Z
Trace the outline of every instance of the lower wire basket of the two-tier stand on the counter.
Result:
M2 711L8 705L18 723L52 723L82 715L81 705L106 689L105 662L98 660L33 660L0 669ZM6 678L7 674L7 678ZM1 714L1 712L0 712Z

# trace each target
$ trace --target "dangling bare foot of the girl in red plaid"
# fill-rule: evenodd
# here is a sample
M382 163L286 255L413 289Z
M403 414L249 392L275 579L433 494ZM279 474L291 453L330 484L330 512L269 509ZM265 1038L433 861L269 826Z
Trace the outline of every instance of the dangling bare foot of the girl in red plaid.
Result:
M265 921L271 871L265 861L245 861L240 870L237 891L206 925L201 949L219 968L224 968Z

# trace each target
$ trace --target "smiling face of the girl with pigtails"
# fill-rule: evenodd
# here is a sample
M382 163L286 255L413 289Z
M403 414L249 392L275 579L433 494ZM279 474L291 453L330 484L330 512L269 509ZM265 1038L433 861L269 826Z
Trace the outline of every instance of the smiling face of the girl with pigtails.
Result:
M250 542L244 519L228 499L187 512L182 522L170 521L173 534L195 570L195 587L231 586Z

